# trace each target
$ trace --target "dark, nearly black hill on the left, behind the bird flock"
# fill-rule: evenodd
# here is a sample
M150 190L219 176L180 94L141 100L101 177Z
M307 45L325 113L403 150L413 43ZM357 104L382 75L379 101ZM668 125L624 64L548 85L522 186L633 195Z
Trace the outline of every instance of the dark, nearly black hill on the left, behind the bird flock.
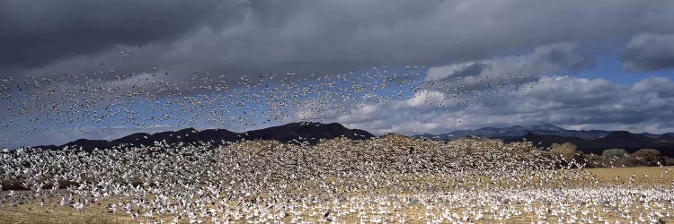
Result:
M154 142L167 143L197 143L213 142L221 145L224 142L236 142L242 140L276 140L279 142L309 142L317 143L321 139L333 139L336 137L346 137L351 140L365 140L375 137L366 131L359 129L349 129L343 125L332 123L290 123L287 125L272 126L260 130L253 130L241 134L228 131L226 129L208 129L198 131L194 128L185 128L178 131L169 131L156 134L137 133L129 134L125 137L112 140L87 140L79 139L74 142L67 142L63 145L43 145L36 146L36 149L56 150L63 147L82 147L85 151L94 149L105 149L114 146L141 146L153 145Z

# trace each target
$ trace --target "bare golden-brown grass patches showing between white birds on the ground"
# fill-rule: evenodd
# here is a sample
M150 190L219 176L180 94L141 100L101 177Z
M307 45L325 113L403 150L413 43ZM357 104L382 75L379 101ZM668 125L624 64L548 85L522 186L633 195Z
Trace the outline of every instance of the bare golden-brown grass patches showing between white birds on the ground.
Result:
M599 182L603 185L672 185L674 181L674 175L670 170L674 170L672 167L658 168L658 167L641 167L641 168L589 168L586 169L588 175L599 178ZM665 174L667 171L667 174ZM627 178L632 177L634 174L634 179L636 181L634 184L629 184ZM618 179L616 180L616 177ZM422 177L421 180L433 181L433 178ZM590 183L588 183L590 185ZM385 191L377 192L375 195L385 195ZM401 194L424 194L424 193L394 193L395 195ZM370 195L373 195L370 193ZM353 195L352 196L359 196ZM366 195L363 195L366 196ZM153 219L148 219L142 217L142 214L137 220L131 219L129 214L118 213L111 214L107 211L107 204L114 202L113 199L109 199L102 202L93 203L84 208L82 212L76 212L71 207L61 207L55 205L58 202L58 199L52 198L47 201L45 206L40 206L38 202L31 202L26 204L21 204L16 207L11 205L5 205L5 207L0 208L0 223L138 223L141 221L151 221ZM575 206L570 204L570 206ZM521 205L513 205L513 208L521 209ZM600 208L595 208L599 210ZM458 210L454 210L460 212ZM392 214L382 215L382 217L395 217L396 214L406 215L409 220L408 223L422 223L425 220L419 220L417 218L424 217L427 212L432 213L433 215L439 215L440 211L429 211L421 204L407 206L400 208L396 211L390 211ZM632 216L637 217L642 211L633 211ZM306 212L303 214L306 219L310 221L321 220L322 214L312 214ZM607 220L615 220L618 217L607 216ZM164 220L170 221L172 217L164 216L161 218L155 217L154 220ZM511 220L506 220L506 223L521 223L521 222L530 222L531 220L537 220L536 215L534 214L523 214L518 217L513 217ZM289 220L288 220L289 221ZM356 214L351 214L349 216L342 217L340 221L346 223L359 222ZM390 220L389 220L390 221ZM549 217L548 221L556 221L555 217ZM674 220L668 220L674 221Z

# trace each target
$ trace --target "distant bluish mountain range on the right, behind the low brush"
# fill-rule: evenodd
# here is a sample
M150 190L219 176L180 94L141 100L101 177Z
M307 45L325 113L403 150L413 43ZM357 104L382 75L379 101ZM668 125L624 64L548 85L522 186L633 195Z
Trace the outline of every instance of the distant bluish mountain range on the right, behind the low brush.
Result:
M562 127L545 125L484 127L475 130L457 130L447 134L418 134L412 137L436 140L453 140L464 137L501 139L503 142L533 142L535 146L549 148L554 143L571 142L579 151L601 154L611 148L628 152L640 149L656 149L662 155L674 157L674 133L633 134L626 131L567 130Z

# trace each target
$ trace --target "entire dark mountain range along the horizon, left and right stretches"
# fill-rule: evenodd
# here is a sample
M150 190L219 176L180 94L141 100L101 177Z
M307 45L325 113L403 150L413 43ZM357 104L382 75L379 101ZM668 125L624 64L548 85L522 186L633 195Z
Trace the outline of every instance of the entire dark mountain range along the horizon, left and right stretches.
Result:
M375 135L360 129L349 129L338 123L322 124L302 122L272 126L244 133L235 133L226 129L207 129L198 131L194 128L185 128L178 131L156 134L130 134L112 141L79 139L59 146L43 145L33 148L56 150L68 146L82 147L85 151L93 151L94 149L106 149L120 145L153 145L154 142L167 142L169 144L177 142L186 144L212 142L216 145L222 145L225 142L243 140L276 140L279 142L308 142L310 144L315 144L321 139L332 139L336 137L346 137L351 140L365 140L375 137ZM633 134L626 131L578 131L545 124L484 127L475 130L457 130L447 134L418 134L413 135L412 137L434 140L482 137L501 139L503 142L528 141L533 142L535 146L544 149L551 147L554 143L571 142L577 146L579 151L595 154L600 154L602 151L611 148L621 148L629 152L650 148L660 150L664 156L674 157L674 133Z

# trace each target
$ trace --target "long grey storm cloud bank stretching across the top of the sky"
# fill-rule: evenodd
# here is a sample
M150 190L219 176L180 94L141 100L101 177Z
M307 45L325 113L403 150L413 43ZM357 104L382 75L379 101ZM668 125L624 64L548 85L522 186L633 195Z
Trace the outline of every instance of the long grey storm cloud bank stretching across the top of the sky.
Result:
M674 31L670 1L67 3L4 1L2 28L17 31L4 34L4 48L14 54L4 54L0 64L37 69L68 61L67 69L77 73L79 60L109 58L95 52L146 43L155 47L114 69L333 73L447 65L562 41Z

